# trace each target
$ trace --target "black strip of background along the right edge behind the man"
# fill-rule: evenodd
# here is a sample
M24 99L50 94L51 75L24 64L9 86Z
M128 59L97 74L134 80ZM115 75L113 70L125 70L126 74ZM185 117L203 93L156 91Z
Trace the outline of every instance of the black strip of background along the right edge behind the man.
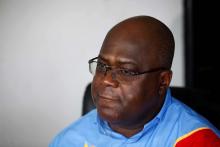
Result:
M217 9L208 1L184 1L185 85L203 95L196 110L220 128Z

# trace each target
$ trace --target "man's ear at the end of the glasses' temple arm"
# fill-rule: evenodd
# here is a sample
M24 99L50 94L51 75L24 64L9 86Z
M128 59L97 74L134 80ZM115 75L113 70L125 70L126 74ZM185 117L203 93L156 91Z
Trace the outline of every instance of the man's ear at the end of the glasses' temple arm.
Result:
M171 70L166 70L160 73L160 85L159 94L163 95L166 93L167 88L170 85L173 72Z

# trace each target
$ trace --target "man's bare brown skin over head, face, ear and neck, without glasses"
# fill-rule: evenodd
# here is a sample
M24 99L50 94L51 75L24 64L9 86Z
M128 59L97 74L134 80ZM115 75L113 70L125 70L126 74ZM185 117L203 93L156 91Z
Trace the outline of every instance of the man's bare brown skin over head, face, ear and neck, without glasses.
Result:
M160 111L172 78L174 39L169 29L148 16L127 19L107 34L99 61L113 68L146 71L166 68L120 82L111 71L95 75L92 97L99 116L116 132L131 137Z

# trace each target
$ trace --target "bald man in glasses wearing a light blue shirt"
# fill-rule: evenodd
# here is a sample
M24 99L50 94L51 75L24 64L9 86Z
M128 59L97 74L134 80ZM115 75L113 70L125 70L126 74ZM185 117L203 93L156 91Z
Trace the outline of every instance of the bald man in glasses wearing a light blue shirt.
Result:
M97 110L50 147L220 146L219 131L171 96L173 55L173 35L155 18L136 16L114 26L89 61Z

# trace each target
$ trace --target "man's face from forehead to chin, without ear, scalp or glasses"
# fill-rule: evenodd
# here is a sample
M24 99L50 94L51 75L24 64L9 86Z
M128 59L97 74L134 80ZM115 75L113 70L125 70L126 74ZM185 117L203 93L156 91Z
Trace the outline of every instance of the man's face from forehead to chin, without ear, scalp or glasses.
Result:
M129 38L109 38L103 43L98 62L142 72L156 67L154 53ZM147 51L148 50L148 51ZM146 64L149 63L149 64ZM110 124L131 125L151 119L158 111L159 72L139 75L128 81L97 74L92 83L92 97L101 118Z

